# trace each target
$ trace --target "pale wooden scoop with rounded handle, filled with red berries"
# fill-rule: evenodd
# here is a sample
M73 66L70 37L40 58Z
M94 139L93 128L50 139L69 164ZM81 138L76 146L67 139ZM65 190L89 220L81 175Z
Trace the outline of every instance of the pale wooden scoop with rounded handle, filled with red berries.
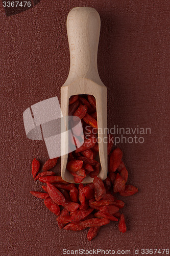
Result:
M100 36L99 13L89 7L73 8L67 16L67 35L70 51L68 78L61 87L61 111L68 116L68 101L71 95L90 94L96 99L98 139L101 170L99 177L107 177L107 88L98 73L97 54ZM66 126L68 123L65 124ZM61 151L68 147L68 136L61 136ZM62 155L62 154L61 154ZM74 177L66 169L68 155L61 156L61 176L71 183ZM85 177L83 183L93 179Z

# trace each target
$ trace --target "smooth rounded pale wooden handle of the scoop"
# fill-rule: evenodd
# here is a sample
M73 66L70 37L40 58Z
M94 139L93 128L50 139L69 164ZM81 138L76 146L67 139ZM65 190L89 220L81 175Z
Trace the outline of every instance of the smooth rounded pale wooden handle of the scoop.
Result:
M70 70L67 80L88 78L101 83L97 55L101 20L90 7L73 8L67 16Z

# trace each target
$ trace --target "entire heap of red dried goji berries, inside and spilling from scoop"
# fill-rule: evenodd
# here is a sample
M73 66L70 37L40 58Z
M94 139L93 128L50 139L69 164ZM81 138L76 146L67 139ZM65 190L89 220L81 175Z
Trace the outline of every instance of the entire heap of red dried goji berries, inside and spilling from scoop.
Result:
M43 172L37 175L40 164L34 158L33 178L46 185L42 186L45 193L30 193L44 199L45 206L58 216L56 220L60 229L77 231L89 227L87 239L91 241L98 234L100 227L110 221L118 222L119 231L126 232L125 217L119 212L125 204L122 200L117 200L115 194L131 196L136 194L138 189L126 185L128 171L122 161L123 153L119 148L112 151L111 135L108 135L108 177L104 181L98 177L100 163L95 160L99 152L96 142L96 105L93 96L88 95L87 99L85 97L75 95L69 99L69 115L82 119L84 136L88 135L84 144L68 155L67 169L74 176L75 182L80 184L65 182L61 176L49 171L56 165L58 158L47 160L42 167ZM87 125L90 125L88 131L91 131L88 134ZM94 129L96 131L93 131ZM75 142L78 140L78 136L74 137ZM87 175L94 178L93 183L83 185L81 182Z

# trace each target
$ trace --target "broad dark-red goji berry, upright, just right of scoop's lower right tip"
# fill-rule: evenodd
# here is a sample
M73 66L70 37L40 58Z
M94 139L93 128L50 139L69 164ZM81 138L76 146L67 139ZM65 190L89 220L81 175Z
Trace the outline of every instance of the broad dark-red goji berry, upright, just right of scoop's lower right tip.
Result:
M122 150L120 148L116 148L110 155L110 172L115 172L117 167L119 166L122 160Z

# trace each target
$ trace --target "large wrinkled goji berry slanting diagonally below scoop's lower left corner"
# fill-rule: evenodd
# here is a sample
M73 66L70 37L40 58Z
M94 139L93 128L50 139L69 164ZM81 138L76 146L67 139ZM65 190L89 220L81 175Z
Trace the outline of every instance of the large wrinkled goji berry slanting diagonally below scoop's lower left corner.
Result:
M50 195L51 199L58 205L65 205L65 197L63 196L63 194L60 192L60 190L58 190L54 185L52 185L51 183L47 182L46 183L47 186L47 191L48 194Z

